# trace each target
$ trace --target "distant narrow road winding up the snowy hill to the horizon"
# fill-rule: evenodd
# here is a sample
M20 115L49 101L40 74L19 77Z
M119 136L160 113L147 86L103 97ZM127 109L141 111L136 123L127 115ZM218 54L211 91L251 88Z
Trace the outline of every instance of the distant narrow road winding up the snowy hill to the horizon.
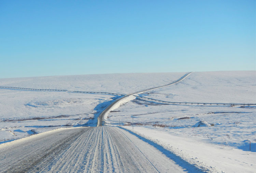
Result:
M185 74L184 76L182 76L181 78L179 78L177 81L174 81L170 84L167 84L167 85L163 85L163 86L159 86L159 87L154 87L154 88L150 88L150 89L146 89L146 90L143 90L143 91L139 91L139 92L134 92L134 93L131 93L131 94L127 94L119 99L116 99L113 103L111 103L108 107L106 107L106 109L104 111L101 112L101 114L99 115L98 117L98 124L97 124L97 127L99 126L102 126L102 121L104 121L104 115L115 105L117 104L119 101L125 99L126 97L129 97L131 95L134 95L134 94L139 94L139 93L143 93L143 92L146 92L146 91L150 91L150 90L153 90L153 89L157 89L157 88L162 88L162 87L166 87L166 86L170 86L170 85L173 85L173 84L176 84L182 80L184 80L188 75L190 75L191 73L193 72L189 72L187 74Z

